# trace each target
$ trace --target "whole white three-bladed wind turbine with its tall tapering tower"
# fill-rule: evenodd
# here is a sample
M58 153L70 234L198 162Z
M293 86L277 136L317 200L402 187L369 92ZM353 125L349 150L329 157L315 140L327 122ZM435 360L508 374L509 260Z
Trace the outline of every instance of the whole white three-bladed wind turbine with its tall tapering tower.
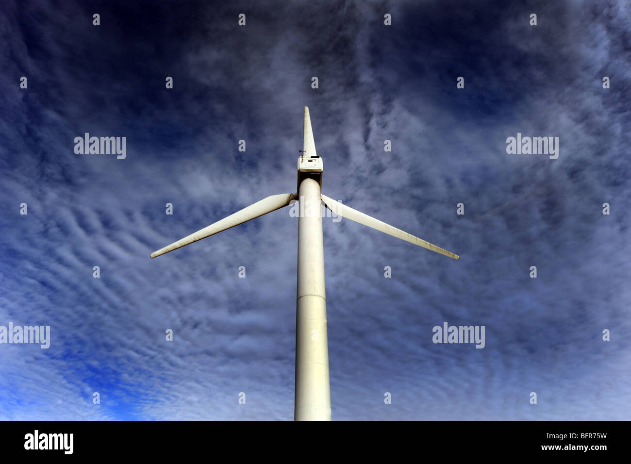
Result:
M329 347L326 333L326 294L324 292L324 247L322 245L321 205L334 214L404 241L460 259L451 253L414 235L342 205L321 193L322 158L315 152L309 108L305 106L302 155L298 158L298 193L271 195L236 213L215 222L194 234L174 242L151 258L230 229L298 200L298 285L296 301L296 379L295 420L331 420L329 388Z

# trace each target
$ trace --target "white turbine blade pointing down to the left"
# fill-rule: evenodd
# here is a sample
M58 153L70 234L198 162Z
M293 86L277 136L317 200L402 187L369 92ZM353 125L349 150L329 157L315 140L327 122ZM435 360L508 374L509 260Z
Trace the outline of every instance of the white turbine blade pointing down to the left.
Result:
M296 199L297 196L297 193L283 193L263 198L261 201L254 203L254 205L247 206L242 210L209 225L208 227L204 227L204 229L198 230L194 234L187 235L187 237L151 253L151 258L168 253L169 251L174 251L175 249L188 245L192 242L217 234L222 230L230 229L230 227L235 227L235 225L242 224L264 214L271 213L271 211L283 208L283 206L289 205L290 201L292 201L292 199Z

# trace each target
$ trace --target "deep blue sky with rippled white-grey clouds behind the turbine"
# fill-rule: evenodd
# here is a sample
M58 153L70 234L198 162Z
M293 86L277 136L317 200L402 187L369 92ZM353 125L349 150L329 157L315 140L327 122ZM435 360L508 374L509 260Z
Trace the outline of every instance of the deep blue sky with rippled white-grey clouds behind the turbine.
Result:
M631 418L628 3L0 11L0 325L51 331L0 345L0 419L293 418L289 208L149 255L294 192L304 106L324 194L461 255L323 220L333 419ZM507 154L517 133L558 158ZM485 348L432 343L445 321Z

